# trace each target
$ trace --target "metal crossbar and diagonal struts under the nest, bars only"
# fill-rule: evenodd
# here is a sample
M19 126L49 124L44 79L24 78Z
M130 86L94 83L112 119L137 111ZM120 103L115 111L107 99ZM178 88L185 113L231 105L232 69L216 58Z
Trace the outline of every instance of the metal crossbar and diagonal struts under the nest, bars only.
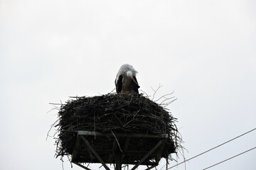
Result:
M77 136L77 141L75 143L75 149L73 151L73 155L72 155L72 159L71 162L82 167L83 169L86 170L91 170L89 168L87 168L86 166L83 166L82 164L80 164L80 157L78 156L81 152L81 150L79 149L79 146L82 145L82 143L84 143L85 145L83 146L87 146L88 151L90 152L91 157L96 157L97 161L100 162L102 164L102 166L105 167L106 170L110 170L109 167L107 167L105 161L102 159L102 157L100 157L100 154L97 153L97 150L95 148L92 147L92 145L90 145L90 142L87 140L86 136L99 136L99 137L117 137L119 139L119 137L122 137L122 151L120 150L121 148L119 148L117 146L117 138L116 140L114 140L113 144L112 144L112 152L110 152L109 157L107 158L106 163L107 164L112 164L113 159L115 160L115 165L116 165L116 170L121 170L122 169L122 159L124 159L125 155L129 154L130 152L134 152L134 151L127 151L127 148L129 146L129 141L131 138L144 138L144 139L156 139L156 141L159 141L156 143L156 145L151 148L149 150L149 152L145 152L144 156L139 160L139 162L134 162L134 167L131 170L135 170L137 169L137 167L141 164L146 164L146 165L150 165L148 166L148 168L146 170L149 169L153 169L154 167L157 166L159 160L161 159L161 153L164 150L164 145L166 143L166 138L169 137L168 134L162 134L162 135L148 135L148 134L125 134L125 133L120 133L120 134L113 134L113 133L102 133L102 132L92 132L92 131L78 131L78 136ZM125 138L124 138L125 137ZM89 138L88 138L89 139ZM159 140L158 140L159 139ZM81 148L81 147L80 147ZM158 149L158 151L156 152L156 149ZM99 151L98 151L99 152ZM157 154L159 155L159 160L158 157L156 157L156 162L148 162L148 163L144 163L146 161L146 159L148 159L149 156L151 156L151 154ZM103 156L104 157L104 156ZM111 163L110 163L111 162ZM129 164L129 163L128 163Z

